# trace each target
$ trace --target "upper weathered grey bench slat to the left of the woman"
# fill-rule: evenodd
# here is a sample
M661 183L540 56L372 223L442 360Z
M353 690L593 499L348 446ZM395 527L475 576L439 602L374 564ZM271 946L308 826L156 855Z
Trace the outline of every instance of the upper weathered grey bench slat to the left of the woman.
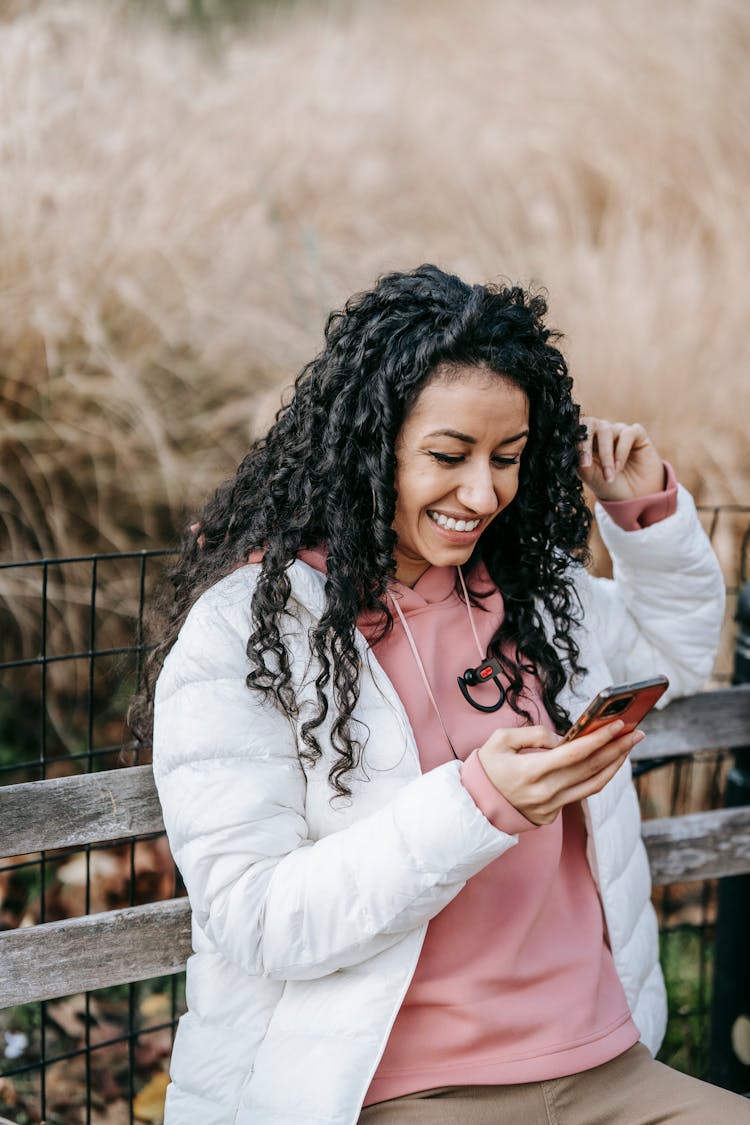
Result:
M31 781L0 789L0 855L159 832L151 766Z

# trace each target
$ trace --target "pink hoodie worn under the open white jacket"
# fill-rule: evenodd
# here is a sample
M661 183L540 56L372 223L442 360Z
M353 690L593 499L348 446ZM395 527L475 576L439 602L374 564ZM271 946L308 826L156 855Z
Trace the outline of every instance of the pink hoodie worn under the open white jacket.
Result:
M663 493L605 505L626 530L671 514L676 482L667 467ZM300 552L325 570L325 550ZM412 983L391 1028L364 1105L436 1086L507 1084L571 1074L614 1059L638 1042L607 946L602 907L585 856L580 806L536 827L495 789L479 760L498 727L524 720L505 704L494 713L470 706L457 674L478 663L467 606L453 568L431 567L414 588L392 596L416 642L441 718L460 758L461 780L485 816L517 845L470 879L427 927ZM470 583L493 590L486 572ZM503 620L493 593L472 609L482 646ZM367 636L372 621L362 618ZM373 652L396 685L415 734L423 772L453 758L425 690L404 628ZM477 688L494 700L494 684ZM540 686L530 676L524 705L533 722L551 724ZM539 752L544 753L544 752Z

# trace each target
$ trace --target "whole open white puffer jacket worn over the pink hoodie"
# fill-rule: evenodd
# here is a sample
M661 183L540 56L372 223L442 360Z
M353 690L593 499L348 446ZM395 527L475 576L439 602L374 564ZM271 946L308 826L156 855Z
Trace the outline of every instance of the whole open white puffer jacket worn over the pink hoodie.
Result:
M600 687L654 673L669 676L667 698L696 690L723 613L719 566L684 489L676 514L642 531L597 515L615 578L579 574L588 674L561 700L573 716ZM298 724L245 686L256 573L243 567L196 603L156 688L154 773L195 948L165 1122L353 1125L427 922L517 837L484 817L458 762L421 774L404 708L359 634L355 714L370 737L347 778L352 800L332 807L333 752L302 770ZM301 723L324 578L299 561L289 575L284 640ZM617 972L656 1052L665 990L629 765L585 812Z

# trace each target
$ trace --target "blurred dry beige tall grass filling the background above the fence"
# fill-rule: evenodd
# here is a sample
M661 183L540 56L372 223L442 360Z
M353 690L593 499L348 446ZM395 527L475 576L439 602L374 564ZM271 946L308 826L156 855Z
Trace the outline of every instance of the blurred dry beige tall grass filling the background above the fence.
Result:
M0 22L7 557L164 542L424 260L546 286L586 407L748 500L748 4L328 0L210 50L142 11Z

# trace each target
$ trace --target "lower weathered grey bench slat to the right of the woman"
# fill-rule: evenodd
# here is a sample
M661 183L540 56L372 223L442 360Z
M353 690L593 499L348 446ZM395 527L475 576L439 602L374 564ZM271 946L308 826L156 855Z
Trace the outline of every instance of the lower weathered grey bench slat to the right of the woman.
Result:
M647 820L654 886L750 874L750 806Z

